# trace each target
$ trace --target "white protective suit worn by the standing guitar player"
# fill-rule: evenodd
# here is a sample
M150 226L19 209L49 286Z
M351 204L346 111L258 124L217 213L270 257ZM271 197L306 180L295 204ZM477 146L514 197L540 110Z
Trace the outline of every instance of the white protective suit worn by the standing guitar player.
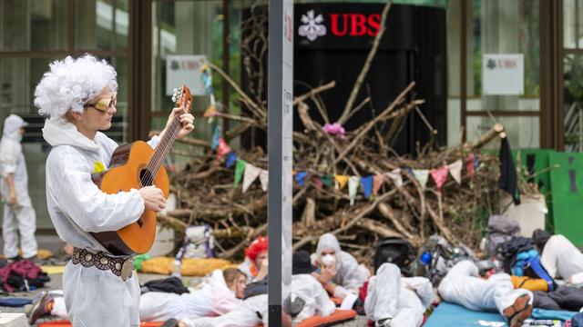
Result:
M118 144L99 132L90 140L74 124L55 118L46 121L43 136L53 146L46 159L46 203L56 233L77 248L106 252L89 232L116 231L144 211L138 190L106 194L91 182L96 163L107 167ZM153 148L158 143L157 136L148 142ZM139 325L135 274L124 282L111 271L69 262L63 291L73 326Z

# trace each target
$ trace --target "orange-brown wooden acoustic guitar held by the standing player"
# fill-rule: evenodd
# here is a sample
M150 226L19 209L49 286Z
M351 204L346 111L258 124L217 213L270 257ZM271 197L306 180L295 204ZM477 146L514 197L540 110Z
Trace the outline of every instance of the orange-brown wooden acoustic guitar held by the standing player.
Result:
M172 100L176 101L177 107L182 110L181 114L189 113L192 95L188 87L182 85L175 89ZM156 150L143 141L119 146L111 156L109 168L91 176L93 183L108 194L156 185L162 190L164 197L168 198L169 178L162 163L181 128L179 115L177 114L169 124ZM130 223L118 231L92 235L114 255L147 253L156 236L156 213L145 210L136 223Z

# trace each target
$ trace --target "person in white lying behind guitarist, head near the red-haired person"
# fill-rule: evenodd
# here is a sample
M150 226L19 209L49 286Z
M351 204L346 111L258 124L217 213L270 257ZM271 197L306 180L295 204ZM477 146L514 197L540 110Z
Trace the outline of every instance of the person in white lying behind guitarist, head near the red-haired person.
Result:
M181 320L216 316L230 312L242 303L247 277L235 268L215 270L209 282L196 292L176 294L172 292L146 292L140 297L139 319L141 322L164 322L171 318ZM30 323L46 315L68 319L65 300L46 293L34 303Z

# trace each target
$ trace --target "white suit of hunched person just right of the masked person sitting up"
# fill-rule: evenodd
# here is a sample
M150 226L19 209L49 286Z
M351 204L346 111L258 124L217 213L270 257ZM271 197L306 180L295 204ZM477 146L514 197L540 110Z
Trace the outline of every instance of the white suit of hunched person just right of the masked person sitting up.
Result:
M372 321L391 318L393 326L418 327L434 289L424 277L401 277L393 263L383 263L368 282L364 312Z

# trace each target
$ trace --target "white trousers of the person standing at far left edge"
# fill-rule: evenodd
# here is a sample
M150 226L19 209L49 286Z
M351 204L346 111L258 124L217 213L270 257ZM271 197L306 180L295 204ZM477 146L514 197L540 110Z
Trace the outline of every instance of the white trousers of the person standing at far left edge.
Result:
M4 255L6 258L14 258L18 255L18 234L20 234L20 247L24 258L32 258L36 255L36 213L30 205L17 205L12 209L4 204L4 222L2 223L2 237L4 238Z

